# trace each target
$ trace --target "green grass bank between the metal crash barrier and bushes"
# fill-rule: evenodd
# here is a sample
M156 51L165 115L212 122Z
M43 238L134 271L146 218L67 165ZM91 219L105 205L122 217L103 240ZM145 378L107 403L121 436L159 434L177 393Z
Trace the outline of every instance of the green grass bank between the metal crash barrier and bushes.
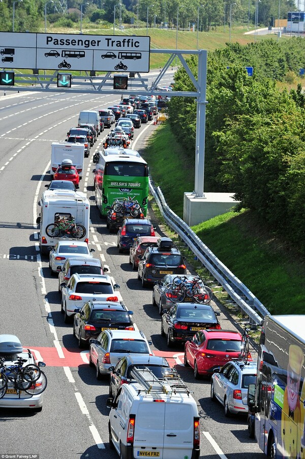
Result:
M186 161L169 126L150 137L143 156L169 207L182 216L183 193L194 187L194 165ZM304 261L288 243L270 236L249 211L220 215L193 230L271 313L304 313Z

